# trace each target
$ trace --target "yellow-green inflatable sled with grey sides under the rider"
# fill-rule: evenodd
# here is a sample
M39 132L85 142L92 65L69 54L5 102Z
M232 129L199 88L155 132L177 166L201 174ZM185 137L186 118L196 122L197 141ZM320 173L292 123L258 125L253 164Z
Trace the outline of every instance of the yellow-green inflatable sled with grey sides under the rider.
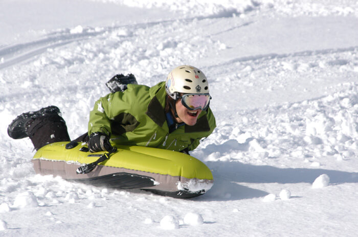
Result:
M32 159L35 172L96 186L140 188L174 198L196 197L213 185L211 171L202 161L180 152L139 146L117 146L93 171L78 174L79 167L97 161L105 152L89 153L81 143L66 149L67 143L40 148Z

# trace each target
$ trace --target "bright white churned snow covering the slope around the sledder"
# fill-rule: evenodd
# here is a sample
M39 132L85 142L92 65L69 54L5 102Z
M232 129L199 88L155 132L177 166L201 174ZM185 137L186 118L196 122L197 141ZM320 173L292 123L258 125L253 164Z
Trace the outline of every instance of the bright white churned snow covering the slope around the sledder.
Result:
M356 236L356 0L3 0L0 9L0 236ZM31 141L7 135L18 114L56 105L75 138L111 77L152 86L181 64L205 72L217 121L191 152L214 176L203 196L36 175Z

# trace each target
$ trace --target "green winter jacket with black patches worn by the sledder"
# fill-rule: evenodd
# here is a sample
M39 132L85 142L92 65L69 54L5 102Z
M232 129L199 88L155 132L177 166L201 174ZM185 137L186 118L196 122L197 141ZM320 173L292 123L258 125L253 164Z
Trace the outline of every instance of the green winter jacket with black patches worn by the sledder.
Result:
M165 82L153 87L129 84L124 92L109 93L95 103L89 114L88 134L106 133L120 145L194 150L216 127L212 111L202 111L194 126L184 125L169 133L165 100Z

